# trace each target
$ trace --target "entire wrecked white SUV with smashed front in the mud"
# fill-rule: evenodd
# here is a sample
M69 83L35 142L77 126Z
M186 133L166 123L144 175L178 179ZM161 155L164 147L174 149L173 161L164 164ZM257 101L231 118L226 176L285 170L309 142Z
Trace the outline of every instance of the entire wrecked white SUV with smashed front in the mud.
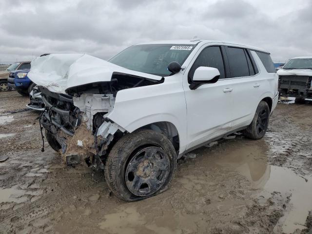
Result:
M203 144L263 137L278 99L267 51L200 39L137 44L108 61L51 54L28 76L50 146L67 164L103 169L126 201L166 190L177 159Z

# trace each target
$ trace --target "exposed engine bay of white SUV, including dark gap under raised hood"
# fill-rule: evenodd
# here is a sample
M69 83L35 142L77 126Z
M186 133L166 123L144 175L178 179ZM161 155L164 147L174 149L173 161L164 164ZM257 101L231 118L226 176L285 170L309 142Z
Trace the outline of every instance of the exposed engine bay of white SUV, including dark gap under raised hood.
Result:
M56 141L67 165L85 162L88 166L104 169L103 162L111 143L126 133L106 117L114 108L117 92L161 82L163 79L114 72L111 81L71 87L65 90L67 94L39 86L45 104L40 123L46 135L52 136L47 138Z

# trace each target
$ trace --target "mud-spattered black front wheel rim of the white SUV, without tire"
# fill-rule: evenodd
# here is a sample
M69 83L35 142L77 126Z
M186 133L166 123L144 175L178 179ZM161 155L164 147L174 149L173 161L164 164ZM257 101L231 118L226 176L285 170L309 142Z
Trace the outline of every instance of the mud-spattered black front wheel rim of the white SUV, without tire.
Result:
M146 147L131 158L125 173L129 191L137 196L155 194L170 172L169 156L159 147Z

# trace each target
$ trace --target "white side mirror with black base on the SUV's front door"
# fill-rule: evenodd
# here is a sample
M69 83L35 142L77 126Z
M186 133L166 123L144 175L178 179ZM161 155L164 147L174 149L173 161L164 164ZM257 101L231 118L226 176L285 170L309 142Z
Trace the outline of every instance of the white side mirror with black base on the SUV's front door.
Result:
M215 83L220 77L220 72L214 67L198 67L193 75L193 81L190 84L190 89L197 89L205 83Z

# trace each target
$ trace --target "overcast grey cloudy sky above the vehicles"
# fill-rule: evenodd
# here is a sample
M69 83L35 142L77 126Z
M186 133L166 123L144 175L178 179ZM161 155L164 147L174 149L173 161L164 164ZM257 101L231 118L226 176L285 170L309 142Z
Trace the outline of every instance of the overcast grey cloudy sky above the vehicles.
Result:
M1 0L0 62L44 53L108 59L139 42L200 39L312 56L312 0Z

